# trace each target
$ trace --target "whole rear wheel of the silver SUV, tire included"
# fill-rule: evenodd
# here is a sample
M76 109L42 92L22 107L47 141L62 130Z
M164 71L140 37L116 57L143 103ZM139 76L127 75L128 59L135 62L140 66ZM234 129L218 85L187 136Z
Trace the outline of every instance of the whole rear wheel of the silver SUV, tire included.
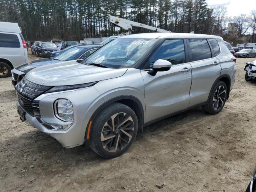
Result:
M212 86L208 101L202 106L204 112L218 114L226 103L228 89L223 81L217 81Z

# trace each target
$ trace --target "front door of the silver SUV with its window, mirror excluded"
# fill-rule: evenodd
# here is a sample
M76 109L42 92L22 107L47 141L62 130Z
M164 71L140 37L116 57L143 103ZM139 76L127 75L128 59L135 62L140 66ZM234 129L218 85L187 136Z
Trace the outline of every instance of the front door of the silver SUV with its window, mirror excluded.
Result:
M170 61L172 67L168 71L157 72L155 76L141 70L147 122L187 109L190 102L192 67L185 57L184 40L165 40L144 68L152 67L158 59Z

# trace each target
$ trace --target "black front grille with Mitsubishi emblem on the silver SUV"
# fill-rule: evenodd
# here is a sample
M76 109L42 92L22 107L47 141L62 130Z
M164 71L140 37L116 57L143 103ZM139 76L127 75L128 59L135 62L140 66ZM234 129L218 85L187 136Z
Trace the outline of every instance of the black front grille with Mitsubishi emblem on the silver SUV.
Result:
M26 112L34 116L32 102L34 98L50 89L50 86L43 86L32 83L24 77L16 86L16 91L20 105Z

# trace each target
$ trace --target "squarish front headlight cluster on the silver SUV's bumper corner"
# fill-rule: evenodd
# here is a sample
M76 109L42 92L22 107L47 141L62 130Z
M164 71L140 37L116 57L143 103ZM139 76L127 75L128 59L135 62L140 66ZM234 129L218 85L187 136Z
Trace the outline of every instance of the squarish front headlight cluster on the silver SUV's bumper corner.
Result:
M54 113L62 121L73 122L73 104L67 99L58 99L54 102Z

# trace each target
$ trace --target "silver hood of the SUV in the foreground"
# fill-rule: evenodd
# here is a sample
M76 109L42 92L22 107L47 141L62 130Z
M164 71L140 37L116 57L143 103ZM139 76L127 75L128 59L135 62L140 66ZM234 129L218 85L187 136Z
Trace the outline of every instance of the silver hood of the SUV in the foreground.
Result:
M84 84L122 76L127 68L110 69L77 63L76 61L40 66L26 74L26 78L45 86Z

